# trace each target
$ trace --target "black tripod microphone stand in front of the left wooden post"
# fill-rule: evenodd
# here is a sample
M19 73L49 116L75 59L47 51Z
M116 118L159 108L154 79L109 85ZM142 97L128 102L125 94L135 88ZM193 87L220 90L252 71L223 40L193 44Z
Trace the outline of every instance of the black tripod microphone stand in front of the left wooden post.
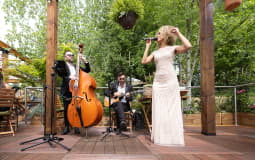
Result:
M53 127L53 122L54 122L54 109L53 107L55 107L55 89L53 88L53 82L56 78L56 63L54 64L54 66L52 67L52 69L54 70L54 73L51 73L51 88L45 86L44 87L44 93L45 93L45 97L44 97L44 105L45 105L45 113L46 113L46 95L47 95L47 89L51 89L51 97L52 97L52 100L51 100L51 124L50 124L50 134L49 135L46 135L46 125L44 125L44 136L43 137L39 137L39 138L35 138L35 139L32 139L32 140L28 140L28 141L25 141L25 142L21 142L20 145L24 145L26 143L30 143L30 142L33 142L33 141L36 141L36 140L40 140L42 139L43 141L40 142L40 143L37 143L37 144L34 144L32 146L29 146L29 147L26 147L26 148L22 148L21 151L25 151L29 148L33 148L35 146L38 146L38 145L41 145L41 144L44 144L44 143L49 143L49 145L51 147L54 147L53 144L51 142L54 142L58 145L60 145L61 147L63 147L64 149L66 149L67 151L71 151L71 148L68 148L67 146L63 145L60 143L60 141L63 141L64 138L60 138L60 137L57 137L57 136L54 136L53 134L53 131L52 131L52 127ZM44 114L44 120L46 120L46 114ZM45 122L44 122L45 123Z

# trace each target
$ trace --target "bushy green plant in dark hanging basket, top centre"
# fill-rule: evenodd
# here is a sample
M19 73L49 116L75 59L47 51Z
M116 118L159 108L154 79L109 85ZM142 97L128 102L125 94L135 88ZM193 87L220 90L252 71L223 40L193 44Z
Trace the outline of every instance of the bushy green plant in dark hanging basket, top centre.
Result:
M138 18L143 19L144 5L141 0L115 0L110 9L110 18L124 29L131 29Z

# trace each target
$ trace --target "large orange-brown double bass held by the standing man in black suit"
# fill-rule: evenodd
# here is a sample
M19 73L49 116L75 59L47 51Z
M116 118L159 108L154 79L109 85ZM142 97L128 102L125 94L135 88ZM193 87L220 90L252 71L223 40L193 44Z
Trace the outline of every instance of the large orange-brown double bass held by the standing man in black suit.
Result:
M73 127L90 127L98 124L103 117L103 106L96 99L96 80L80 69L80 54L83 44L79 45L76 63L76 77L70 80L69 90L72 101L68 106L67 117Z

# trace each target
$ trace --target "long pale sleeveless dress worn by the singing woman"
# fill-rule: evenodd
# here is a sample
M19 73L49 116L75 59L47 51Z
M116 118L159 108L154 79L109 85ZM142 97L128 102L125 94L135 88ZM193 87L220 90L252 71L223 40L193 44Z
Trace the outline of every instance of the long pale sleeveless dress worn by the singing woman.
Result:
M176 46L154 51L151 140L158 145L184 146L180 88L173 66Z

